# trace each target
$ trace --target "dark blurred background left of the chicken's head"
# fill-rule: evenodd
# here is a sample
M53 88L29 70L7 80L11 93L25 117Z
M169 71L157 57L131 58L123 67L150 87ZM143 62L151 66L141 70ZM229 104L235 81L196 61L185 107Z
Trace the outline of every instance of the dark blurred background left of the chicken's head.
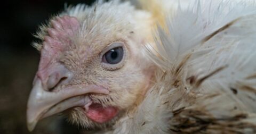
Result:
M38 25L65 3L92 4L93 0L20 0L1 2L0 16L0 133L81 133L60 116L39 122L33 132L26 127L26 103L39 53L31 46ZM51 118L52 119L52 118Z

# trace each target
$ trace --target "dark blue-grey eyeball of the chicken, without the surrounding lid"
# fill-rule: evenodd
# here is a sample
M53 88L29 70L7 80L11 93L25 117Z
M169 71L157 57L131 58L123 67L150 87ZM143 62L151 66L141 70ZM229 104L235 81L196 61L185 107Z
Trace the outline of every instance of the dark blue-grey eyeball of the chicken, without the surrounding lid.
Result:
M110 51L106 52L102 57L102 62L108 64L117 64L122 61L124 56L123 47L116 47L110 49Z

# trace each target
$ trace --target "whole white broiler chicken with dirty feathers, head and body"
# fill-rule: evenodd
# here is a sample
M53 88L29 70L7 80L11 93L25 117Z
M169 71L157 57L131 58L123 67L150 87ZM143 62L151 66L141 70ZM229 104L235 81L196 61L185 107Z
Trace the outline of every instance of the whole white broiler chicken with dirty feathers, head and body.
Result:
M41 27L29 130L63 112L102 133L256 133L254 1L138 2Z

